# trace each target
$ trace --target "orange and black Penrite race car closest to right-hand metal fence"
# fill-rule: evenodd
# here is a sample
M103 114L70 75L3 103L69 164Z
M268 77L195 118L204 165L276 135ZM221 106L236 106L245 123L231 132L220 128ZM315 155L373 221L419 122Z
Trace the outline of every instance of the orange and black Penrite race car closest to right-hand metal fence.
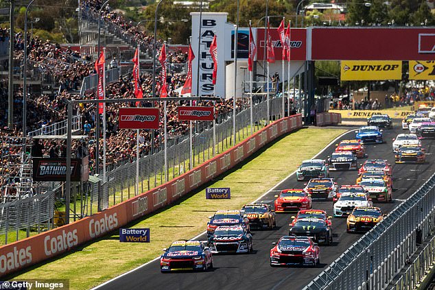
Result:
M358 206L347 217L347 232L367 232L384 219L381 208L375 206Z

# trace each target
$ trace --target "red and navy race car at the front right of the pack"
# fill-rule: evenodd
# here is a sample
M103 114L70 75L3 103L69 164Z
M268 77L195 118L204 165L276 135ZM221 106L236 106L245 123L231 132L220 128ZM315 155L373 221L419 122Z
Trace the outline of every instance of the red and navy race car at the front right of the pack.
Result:
M310 237L285 236L272 243L270 266L311 265L320 263L320 248Z

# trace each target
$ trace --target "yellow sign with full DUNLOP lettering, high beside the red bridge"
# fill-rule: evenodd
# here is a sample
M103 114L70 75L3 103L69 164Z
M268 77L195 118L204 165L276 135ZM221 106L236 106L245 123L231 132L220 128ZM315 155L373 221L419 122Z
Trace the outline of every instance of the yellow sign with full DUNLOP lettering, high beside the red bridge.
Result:
M392 60L342 60L341 80L401 80L402 62Z

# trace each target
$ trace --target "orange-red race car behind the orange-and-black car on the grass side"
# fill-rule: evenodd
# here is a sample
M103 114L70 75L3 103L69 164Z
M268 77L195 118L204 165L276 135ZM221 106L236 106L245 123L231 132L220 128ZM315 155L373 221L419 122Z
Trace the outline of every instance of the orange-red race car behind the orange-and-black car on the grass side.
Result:
M303 189L284 189L275 195L275 212L285 213L311 208L311 195Z

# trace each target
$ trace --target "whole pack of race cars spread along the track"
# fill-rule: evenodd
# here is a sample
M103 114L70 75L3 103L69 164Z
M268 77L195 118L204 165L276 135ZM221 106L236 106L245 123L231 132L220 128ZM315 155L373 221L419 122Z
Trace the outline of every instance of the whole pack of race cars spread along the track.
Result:
M320 263L319 245L331 245L333 232L332 217L325 210L316 209L315 200L331 200L333 217L346 218L346 232L371 230L385 216L373 202L392 201L392 165L383 159L367 159L358 165L358 159L366 158L367 143L384 143L383 130L374 124L390 128L392 123L389 117L375 118L368 123L370 125L357 130L355 139L338 143L327 160L304 160L296 171L296 178L306 181L305 187L279 192L275 195L274 208L266 203L255 203L246 204L241 210L218 210L209 217L207 243L172 243L161 256L161 271L206 271L213 267L213 254L252 253L251 230L273 230L277 226L277 213L293 215L288 235L272 243L270 266L316 267ZM402 123L402 128L404 126ZM412 128L420 133L399 134L393 139L396 163L425 162L421 138L430 134L435 137L435 123L423 121L420 126ZM337 170L357 171L355 184L339 186L329 177L329 171Z

